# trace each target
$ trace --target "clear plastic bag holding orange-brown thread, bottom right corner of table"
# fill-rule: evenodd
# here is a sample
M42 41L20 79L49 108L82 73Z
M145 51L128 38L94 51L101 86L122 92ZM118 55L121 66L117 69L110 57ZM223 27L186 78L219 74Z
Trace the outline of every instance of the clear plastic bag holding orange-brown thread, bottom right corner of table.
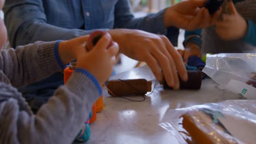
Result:
M255 143L256 100L227 100L170 110L159 125L179 143Z

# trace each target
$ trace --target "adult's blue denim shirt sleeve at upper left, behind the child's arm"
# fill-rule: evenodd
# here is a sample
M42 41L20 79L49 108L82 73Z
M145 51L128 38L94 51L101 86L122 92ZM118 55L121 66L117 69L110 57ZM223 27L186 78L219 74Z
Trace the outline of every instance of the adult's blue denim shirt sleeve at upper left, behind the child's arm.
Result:
M68 40L92 32L50 25L47 23L42 0L8 0L5 1L3 11L12 47L31 44L38 40Z

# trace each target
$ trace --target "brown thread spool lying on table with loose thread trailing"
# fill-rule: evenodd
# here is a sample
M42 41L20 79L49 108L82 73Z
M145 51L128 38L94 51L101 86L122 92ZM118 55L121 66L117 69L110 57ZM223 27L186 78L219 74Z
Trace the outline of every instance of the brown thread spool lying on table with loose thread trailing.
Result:
M152 81L145 79L110 80L106 86L108 94L113 96L144 95L152 91Z

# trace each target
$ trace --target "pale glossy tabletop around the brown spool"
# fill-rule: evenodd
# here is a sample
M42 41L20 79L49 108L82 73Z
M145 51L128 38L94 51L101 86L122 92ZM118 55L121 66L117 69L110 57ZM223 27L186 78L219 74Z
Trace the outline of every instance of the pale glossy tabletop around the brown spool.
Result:
M110 77L113 79L155 80L149 67L139 67ZM105 108L90 124L91 138L86 143L179 143L174 135L160 127L168 110L203 103L241 99L240 95L224 91L211 79L202 81L200 90L164 90L156 86L142 102L111 97L103 89ZM127 97L142 99L142 97ZM166 117L165 117L166 118Z

